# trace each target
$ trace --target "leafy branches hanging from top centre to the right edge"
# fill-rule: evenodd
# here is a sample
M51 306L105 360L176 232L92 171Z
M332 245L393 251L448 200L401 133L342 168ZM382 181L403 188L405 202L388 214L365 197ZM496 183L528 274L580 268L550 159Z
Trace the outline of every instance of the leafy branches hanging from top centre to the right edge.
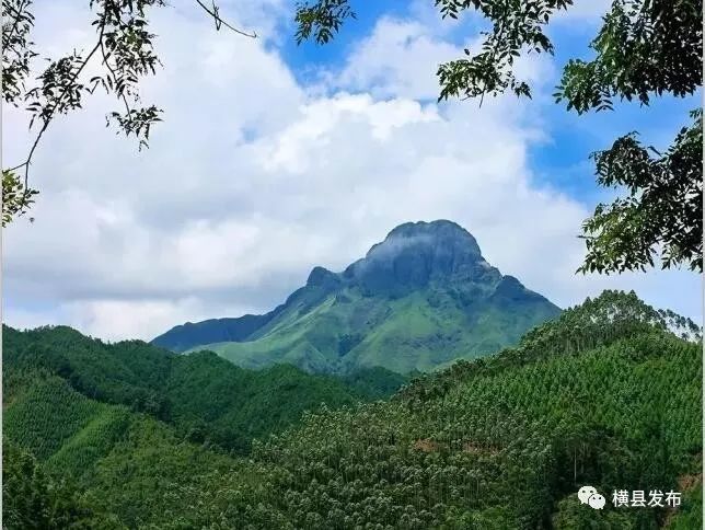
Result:
M479 12L492 25L479 49L438 68L440 100L498 95L531 97L531 87L515 76L522 53L554 53L545 33L552 18L573 0L435 0L441 16ZM694 94L703 83L702 0L613 0L590 44L594 59L568 61L554 94L568 111L612 110L614 100ZM348 0L315 0L297 8L301 42L327 43L346 19ZM624 198L598 205L582 226L587 256L580 272L646 269L660 254L661 267L703 270L702 113L691 114L671 147L660 153L643 146L636 132L592 154L598 183L626 188Z

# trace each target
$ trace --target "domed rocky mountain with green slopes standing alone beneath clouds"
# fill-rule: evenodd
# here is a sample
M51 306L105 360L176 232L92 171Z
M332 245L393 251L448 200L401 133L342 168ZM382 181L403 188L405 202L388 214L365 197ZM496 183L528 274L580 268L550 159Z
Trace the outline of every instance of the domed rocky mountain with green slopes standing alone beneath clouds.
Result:
M559 311L488 264L454 222L409 222L343 273L314 267L304 287L265 315L184 324L153 344L209 349L245 368L409 373L516 344Z

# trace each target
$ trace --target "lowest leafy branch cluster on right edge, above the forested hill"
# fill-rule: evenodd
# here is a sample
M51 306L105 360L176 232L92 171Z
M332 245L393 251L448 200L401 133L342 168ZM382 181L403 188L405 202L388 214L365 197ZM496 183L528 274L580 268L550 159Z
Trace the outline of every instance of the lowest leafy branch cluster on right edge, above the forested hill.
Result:
M599 204L585 221L588 254L579 272L646 270L659 250L662 268L703 269L702 110L691 118L664 153L632 132L592 154L600 185L628 195Z

